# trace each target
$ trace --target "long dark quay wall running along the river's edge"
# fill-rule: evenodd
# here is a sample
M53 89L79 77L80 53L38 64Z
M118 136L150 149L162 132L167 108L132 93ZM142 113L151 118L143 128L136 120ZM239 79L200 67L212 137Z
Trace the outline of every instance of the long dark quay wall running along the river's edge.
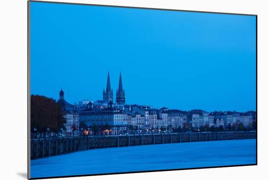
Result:
M97 148L244 139L256 139L256 132L159 133L34 139L31 140L31 160Z

